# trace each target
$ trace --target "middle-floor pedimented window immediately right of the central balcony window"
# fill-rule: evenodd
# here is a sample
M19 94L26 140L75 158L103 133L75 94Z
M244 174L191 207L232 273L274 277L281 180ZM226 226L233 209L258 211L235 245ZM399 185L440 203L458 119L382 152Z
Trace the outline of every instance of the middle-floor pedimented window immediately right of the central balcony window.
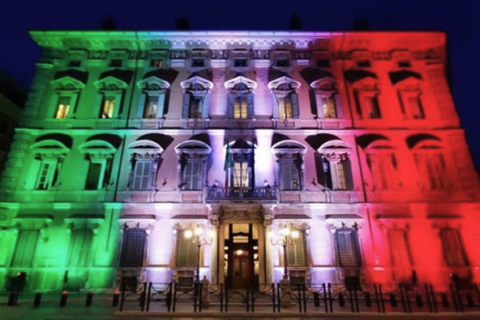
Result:
M280 190L302 190L303 156L307 148L292 140L276 143L272 152L277 158L277 175Z

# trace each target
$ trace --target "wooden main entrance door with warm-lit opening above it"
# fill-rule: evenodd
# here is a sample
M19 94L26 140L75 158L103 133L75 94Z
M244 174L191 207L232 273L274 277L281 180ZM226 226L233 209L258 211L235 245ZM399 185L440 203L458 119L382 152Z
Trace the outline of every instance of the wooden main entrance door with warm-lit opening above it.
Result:
M255 239L252 224L229 224L225 237L227 258L226 284L231 289L253 286L255 257L258 257L258 239Z

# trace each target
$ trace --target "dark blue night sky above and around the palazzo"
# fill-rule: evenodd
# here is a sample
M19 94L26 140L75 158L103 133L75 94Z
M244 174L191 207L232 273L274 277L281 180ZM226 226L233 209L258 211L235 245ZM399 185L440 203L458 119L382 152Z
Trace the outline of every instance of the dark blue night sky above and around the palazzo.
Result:
M480 168L480 0L27 1L0 4L0 68L29 88L40 50L27 30L100 29L113 16L121 30L172 30L179 16L192 30L286 30L292 13L306 31L439 30L448 34L453 98Z

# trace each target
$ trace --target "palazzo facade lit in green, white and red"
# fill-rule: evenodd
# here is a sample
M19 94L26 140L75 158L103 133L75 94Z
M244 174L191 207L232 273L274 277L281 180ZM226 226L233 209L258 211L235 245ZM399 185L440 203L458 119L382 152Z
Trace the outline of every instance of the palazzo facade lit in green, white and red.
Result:
M3 290L480 281L444 33L30 34Z

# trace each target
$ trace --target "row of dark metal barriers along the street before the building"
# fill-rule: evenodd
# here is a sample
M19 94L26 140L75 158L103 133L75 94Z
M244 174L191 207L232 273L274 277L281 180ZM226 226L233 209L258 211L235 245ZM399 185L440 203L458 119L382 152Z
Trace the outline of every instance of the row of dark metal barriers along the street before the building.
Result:
M176 312L245 311L257 313L318 312L335 313L416 313L416 312L480 312L478 285L449 286L432 284L336 284L322 283L291 286L260 284L245 289L229 289L223 284L195 282L188 286L174 283L136 284L123 279L120 311L128 303L138 304L140 311Z

